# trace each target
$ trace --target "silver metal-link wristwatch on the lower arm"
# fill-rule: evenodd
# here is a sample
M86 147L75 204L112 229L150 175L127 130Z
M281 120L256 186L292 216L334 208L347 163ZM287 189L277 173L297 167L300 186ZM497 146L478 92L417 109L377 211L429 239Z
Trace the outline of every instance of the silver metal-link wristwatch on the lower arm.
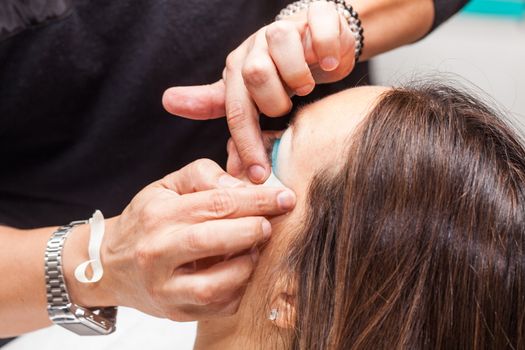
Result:
M73 221L56 230L47 242L45 276L47 312L53 323L79 335L106 335L115 331L116 307L85 308L71 303L62 271L62 248L66 237L76 225Z

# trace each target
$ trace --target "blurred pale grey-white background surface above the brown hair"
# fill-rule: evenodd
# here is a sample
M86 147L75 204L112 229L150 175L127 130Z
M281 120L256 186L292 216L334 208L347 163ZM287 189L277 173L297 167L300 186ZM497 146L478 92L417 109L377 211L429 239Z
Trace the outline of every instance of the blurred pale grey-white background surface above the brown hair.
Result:
M425 75L446 79L453 73L453 79L474 83L525 123L525 20L462 14L372 64L376 84L395 85Z

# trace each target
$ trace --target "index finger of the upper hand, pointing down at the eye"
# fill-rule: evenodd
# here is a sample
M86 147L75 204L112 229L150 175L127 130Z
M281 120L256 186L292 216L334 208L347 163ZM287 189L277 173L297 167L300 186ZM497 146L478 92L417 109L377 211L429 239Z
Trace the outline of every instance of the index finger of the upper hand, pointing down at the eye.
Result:
M259 112L244 85L242 62L237 55L226 62L226 120L243 166L250 180L262 183L270 175L263 146Z

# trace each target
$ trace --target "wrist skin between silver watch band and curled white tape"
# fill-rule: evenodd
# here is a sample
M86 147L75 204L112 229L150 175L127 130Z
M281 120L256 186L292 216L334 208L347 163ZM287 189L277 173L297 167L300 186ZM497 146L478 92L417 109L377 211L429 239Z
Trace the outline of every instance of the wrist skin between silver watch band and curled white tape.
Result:
M105 220L106 225L109 220ZM88 245L90 225L84 224L72 229L63 248L63 274L70 301L84 307L106 307L117 305L112 281L106 269L100 281L81 283L75 278L75 269L89 260ZM104 266L106 267L106 266Z

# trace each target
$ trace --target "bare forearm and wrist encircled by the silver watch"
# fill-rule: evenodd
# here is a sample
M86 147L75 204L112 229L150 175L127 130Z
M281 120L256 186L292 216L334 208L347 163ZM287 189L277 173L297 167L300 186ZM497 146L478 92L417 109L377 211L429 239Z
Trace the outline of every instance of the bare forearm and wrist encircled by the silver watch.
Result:
M0 226L0 337L51 325L47 315L44 254L56 227L18 230ZM104 284L81 285L75 267L88 259L89 227L75 227L63 250L63 270L71 300L84 306L109 304ZM106 306L106 305L103 305Z

